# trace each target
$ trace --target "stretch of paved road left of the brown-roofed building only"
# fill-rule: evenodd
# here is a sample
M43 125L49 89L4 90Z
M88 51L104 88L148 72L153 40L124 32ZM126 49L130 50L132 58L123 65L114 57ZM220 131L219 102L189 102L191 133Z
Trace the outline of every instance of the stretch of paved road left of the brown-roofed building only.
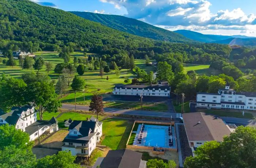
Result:
M75 105L62 104L61 108L74 110ZM89 107L83 106L83 105L76 105L76 110L89 111ZM153 117L155 116L155 117L167 117L167 118L180 117L179 116L180 113L168 113L168 112L139 111L139 110L129 110L129 109L116 109L116 108L104 108L104 111L108 113L128 114L128 115L138 115L138 116L153 116Z

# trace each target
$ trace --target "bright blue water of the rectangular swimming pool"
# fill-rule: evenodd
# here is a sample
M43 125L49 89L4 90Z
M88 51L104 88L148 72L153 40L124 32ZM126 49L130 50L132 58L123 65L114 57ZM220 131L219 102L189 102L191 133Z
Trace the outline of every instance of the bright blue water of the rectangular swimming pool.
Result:
M165 147L165 129L148 128L145 146Z

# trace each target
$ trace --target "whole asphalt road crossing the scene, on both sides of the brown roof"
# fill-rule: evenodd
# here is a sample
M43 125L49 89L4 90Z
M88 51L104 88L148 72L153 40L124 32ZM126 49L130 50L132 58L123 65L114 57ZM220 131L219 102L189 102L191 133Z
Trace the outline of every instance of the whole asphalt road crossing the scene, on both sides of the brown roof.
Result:
M62 104L62 108L75 110L75 105L72 104ZM89 111L89 106L76 105L77 110ZM104 108L105 112L116 113L116 114L128 114L128 115L138 115L138 116L155 116L155 117L166 117L166 118L175 118L180 117L180 113L168 113L168 112L153 112L153 111L139 111L139 110L128 110L128 109L116 109L116 108ZM178 115L177 115L178 114ZM238 125L249 125L256 127L256 120L250 119L239 119L233 117L220 117L223 121L228 124Z

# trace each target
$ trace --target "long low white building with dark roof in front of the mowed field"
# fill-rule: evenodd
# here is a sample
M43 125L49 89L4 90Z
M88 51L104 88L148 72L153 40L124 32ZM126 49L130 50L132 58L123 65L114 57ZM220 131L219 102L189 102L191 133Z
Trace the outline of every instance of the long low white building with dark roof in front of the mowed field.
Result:
M170 96L171 88L166 81L159 81L154 85L116 85L113 90L114 95L134 95L134 96Z

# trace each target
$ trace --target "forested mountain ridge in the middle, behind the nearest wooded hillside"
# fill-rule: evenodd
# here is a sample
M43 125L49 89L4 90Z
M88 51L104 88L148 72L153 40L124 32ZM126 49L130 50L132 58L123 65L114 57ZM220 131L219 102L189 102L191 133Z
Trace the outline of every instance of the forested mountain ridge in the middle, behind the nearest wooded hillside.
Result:
M188 42L188 39L178 33L168 31L153 25L144 23L136 19L119 16L119 15L103 15L91 12L71 12L77 16L83 17L91 21L95 21L117 29L123 32L131 33L142 37L148 37L155 40L166 40L171 42Z

